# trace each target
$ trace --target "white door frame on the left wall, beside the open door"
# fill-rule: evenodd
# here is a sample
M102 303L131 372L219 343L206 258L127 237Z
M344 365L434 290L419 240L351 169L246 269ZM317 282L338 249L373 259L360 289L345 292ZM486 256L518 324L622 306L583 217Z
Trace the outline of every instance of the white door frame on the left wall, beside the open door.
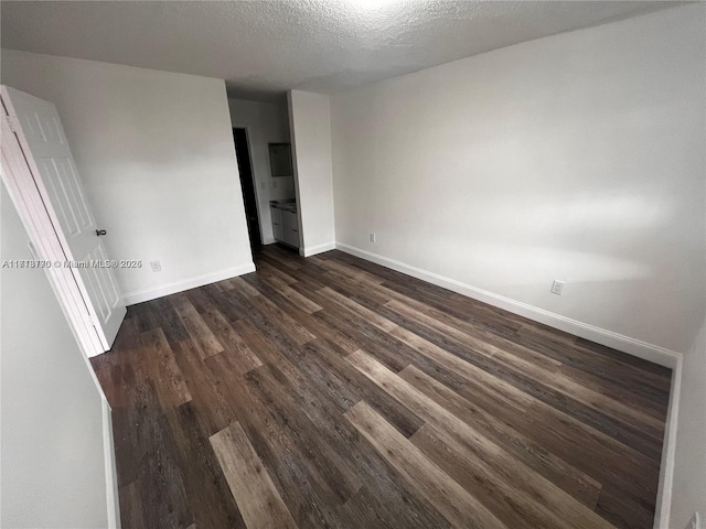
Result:
M93 304L85 288L82 289L77 269L64 266L71 260L66 241L62 240L61 230L54 228L58 220L45 201L46 190L41 179L34 177L33 173L39 171L33 166L32 156L25 155L30 152L29 145L22 145L22 134L15 132L20 126L4 106L8 104L4 87L2 93L2 181L30 236L32 257L44 268L76 341L87 358L99 355L107 347L95 327Z

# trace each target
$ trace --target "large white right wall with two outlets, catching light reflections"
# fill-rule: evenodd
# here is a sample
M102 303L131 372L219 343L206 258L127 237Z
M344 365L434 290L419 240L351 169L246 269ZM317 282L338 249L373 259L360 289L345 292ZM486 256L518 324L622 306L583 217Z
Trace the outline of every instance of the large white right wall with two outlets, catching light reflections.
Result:
M336 241L627 345L687 350L705 311L705 12L332 96Z

